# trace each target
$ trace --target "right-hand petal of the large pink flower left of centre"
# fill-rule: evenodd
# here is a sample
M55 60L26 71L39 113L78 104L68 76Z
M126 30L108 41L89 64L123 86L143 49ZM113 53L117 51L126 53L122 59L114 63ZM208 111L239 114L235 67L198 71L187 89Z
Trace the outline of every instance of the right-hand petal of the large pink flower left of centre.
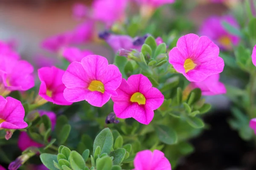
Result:
M120 86L122 82L122 74L120 73L116 65L108 65L108 68L105 72L105 77L102 79L105 90L115 91L116 88Z

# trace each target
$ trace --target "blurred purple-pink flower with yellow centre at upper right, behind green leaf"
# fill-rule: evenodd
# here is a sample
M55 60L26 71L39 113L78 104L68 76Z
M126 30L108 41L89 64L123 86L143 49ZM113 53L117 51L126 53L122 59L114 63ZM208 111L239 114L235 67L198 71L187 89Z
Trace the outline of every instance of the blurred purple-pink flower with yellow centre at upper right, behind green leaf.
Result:
M209 39L215 42L220 48L230 50L232 49L232 44L238 45L240 38L226 31L221 24L223 21L236 28L239 28L236 19L231 15L225 15L222 17L212 16L204 21L200 28L199 34L209 37Z

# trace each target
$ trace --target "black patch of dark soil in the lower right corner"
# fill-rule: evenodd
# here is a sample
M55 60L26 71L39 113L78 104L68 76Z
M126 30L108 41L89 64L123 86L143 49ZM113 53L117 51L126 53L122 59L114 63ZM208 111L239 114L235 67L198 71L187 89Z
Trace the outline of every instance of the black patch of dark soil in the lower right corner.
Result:
M255 147L230 129L230 117L229 111L206 116L210 129L191 141L195 152L184 158L177 170L256 170Z

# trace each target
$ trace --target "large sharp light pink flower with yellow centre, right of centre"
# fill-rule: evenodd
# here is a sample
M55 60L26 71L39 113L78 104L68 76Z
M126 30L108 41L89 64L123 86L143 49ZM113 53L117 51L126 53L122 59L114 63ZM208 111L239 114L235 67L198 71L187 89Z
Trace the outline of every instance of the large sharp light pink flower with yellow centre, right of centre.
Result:
M169 62L190 82L201 82L223 71L224 61L218 54L218 46L208 37L187 34L169 52Z

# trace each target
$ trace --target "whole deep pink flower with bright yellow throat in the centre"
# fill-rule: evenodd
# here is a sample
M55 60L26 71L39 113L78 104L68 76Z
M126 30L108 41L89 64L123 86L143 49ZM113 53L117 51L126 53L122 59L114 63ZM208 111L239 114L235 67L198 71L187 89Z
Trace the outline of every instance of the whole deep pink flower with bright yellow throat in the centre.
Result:
M152 87L149 79L142 74L130 76L116 90L117 96L112 96L114 112L121 119L134 118L148 125L154 117L154 110L159 108L164 100L163 94Z

